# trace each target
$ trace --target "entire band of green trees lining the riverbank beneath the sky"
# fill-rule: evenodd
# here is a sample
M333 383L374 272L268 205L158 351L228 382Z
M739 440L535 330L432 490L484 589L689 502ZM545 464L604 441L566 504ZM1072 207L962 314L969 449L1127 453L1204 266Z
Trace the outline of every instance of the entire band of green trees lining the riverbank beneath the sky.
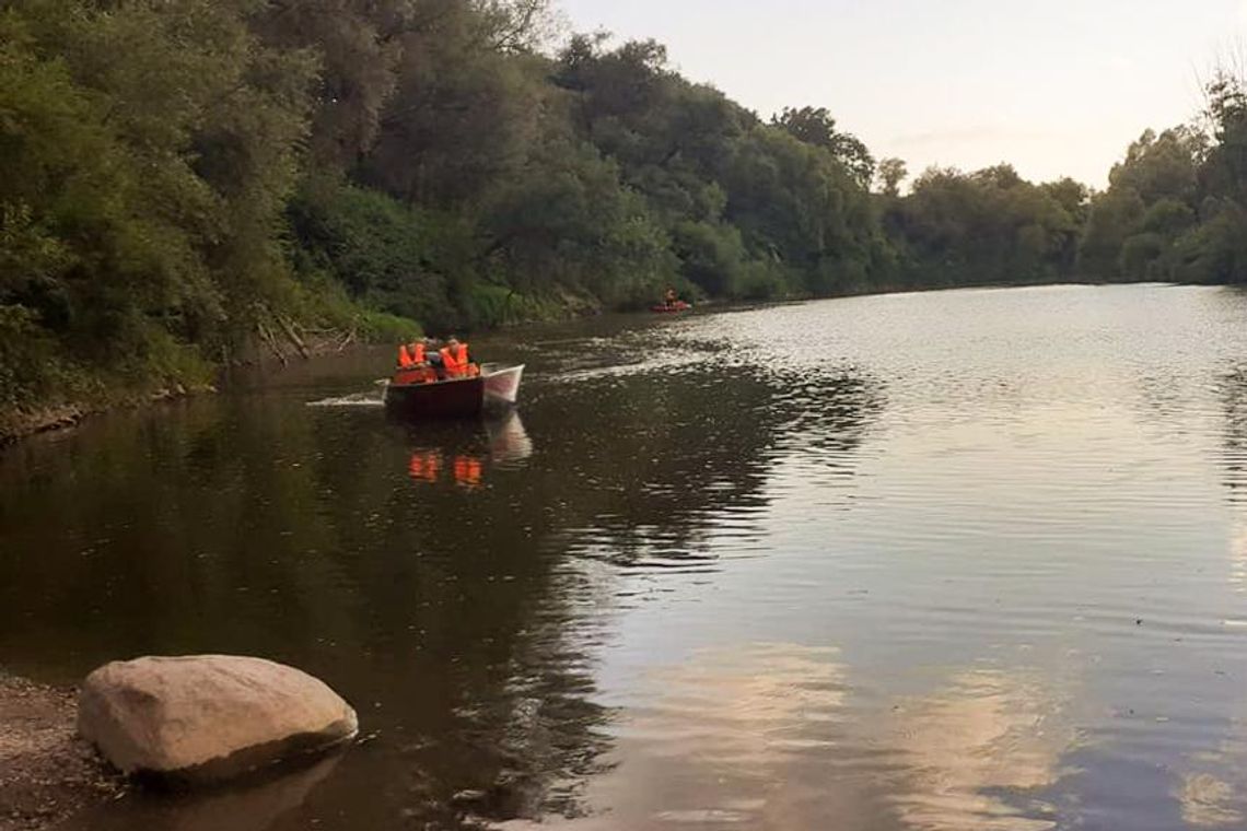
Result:
M247 344L697 298L1243 274L1247 103L1104 193L875 159L546 0L0 0L0 406Z

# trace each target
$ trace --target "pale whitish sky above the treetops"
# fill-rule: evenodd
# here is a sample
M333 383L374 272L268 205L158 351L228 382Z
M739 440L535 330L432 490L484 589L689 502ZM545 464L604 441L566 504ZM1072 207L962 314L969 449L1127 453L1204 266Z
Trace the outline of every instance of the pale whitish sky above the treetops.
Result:
M1008 161L1095 187L1145 128L1196 115L1247 34L1247 0L556 1L762 117L826 106L910 173Z

